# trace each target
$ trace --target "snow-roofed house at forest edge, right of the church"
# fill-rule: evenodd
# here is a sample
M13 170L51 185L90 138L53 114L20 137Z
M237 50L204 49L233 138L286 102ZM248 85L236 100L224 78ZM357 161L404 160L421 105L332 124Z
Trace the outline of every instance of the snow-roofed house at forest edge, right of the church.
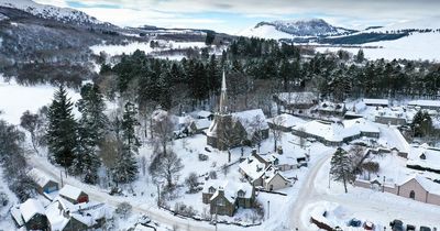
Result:
M280 92L274 95L274 101L287 110L309 109L318 103L318 97L310 91Z

